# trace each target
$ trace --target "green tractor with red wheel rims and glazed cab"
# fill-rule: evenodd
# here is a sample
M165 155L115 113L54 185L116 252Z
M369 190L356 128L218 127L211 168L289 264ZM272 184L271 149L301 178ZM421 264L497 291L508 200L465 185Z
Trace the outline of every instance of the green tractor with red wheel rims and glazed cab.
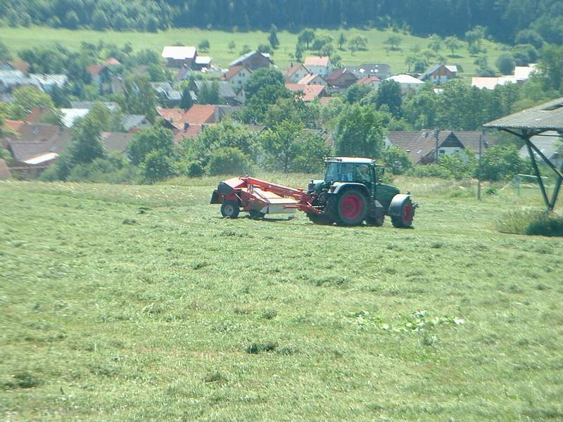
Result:
M395 227L410 227L416 203L410 193L401 194L395 186L381 183L384 168L369 158L327 158L324 180L312 180L308 186L310 201L321 213L307 212L315 224L381 226L385 216Z

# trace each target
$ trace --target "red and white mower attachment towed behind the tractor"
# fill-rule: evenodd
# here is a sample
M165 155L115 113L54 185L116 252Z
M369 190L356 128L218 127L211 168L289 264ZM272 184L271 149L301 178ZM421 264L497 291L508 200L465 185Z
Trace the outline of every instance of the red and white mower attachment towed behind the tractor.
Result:
M291 214L295 210L320 214L312 206L312 196L299 188L289 188L269 181L241 176L222 181L211 196L212 204L221 205L221 215L236 218L247 211L253 218L266 214Z

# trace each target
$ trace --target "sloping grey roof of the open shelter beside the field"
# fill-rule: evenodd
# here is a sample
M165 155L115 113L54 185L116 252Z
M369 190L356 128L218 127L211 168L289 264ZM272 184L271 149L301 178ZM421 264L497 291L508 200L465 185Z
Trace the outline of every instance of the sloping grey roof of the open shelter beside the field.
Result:
M483 124L483 127L563 132L563 97L501 117Z

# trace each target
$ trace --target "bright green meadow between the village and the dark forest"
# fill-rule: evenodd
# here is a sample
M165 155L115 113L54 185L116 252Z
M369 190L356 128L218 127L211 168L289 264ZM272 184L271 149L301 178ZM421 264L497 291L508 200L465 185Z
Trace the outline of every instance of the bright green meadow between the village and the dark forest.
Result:
M362 35L367 37L367 50L356 51L352 53L348 49L346 51L336 51L343 59L344 65L359 65L361 63L388 63L391 65L393 73L405 72L407 66L405 65L405 57L412 56L412 47L420 46L422 51L427 49L429 40L422 37L414 37L411 35L400 34L391 31L379 30L317 30L317 33L329 34L336 40L339 34L343 32L348 39L355 35ZM291 58L289 53L295 53L295 46L297 42L297 35L287 31L279 32L280 47L274 52L273 59L279 68L286 68L289 65ZM398 51L387 51L384 41L391 35L400 37L401 44ZM244 45L248 45L251 49L255 49L259 44L267 44L267 32L253 31L253 32L224 32L224 31L209 31L192 29L174 29L158 32L157 34L147 32L99 32L93 30L61 30L49 27L2 27L0 28L0 40L8 46L13 54L22 49L29 49L32 46L49 46L56 42L61 43L68 49L77 49L80 47L82 41L97 43L104 41L106 43L113 43L122 46L129 42L135 50L138 49L152 49L160 53L163 46L167 44L182 43L184 45L198 45L201 40L208 39L211 44L208 53L213 57L216 66L226 68L232 60L239 57L239 53ZM229 51L229 42L234 41L236 48L231 52ZM496 44L491 41L483 41L488 53L488 63L491 67L494 66L495 60L500 56L502 51L506 48L502 44ZM451 54L444 45L439 52L441 56L448 58ZM315 52L310 51L305 53L307 55L315 55ZM455 58L448 58L448 63L462 65L463 72L461 75L474 75L476 66L474 65L475 58L469 55L467 45L462 49L455 51Z

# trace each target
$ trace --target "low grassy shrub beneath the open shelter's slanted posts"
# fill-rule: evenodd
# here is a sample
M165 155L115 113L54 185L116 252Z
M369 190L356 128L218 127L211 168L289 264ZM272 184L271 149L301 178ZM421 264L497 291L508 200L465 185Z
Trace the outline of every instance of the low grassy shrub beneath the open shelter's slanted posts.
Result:
M545 210L512 210L502 215L497 230L530 236L563 236L563 216Z

